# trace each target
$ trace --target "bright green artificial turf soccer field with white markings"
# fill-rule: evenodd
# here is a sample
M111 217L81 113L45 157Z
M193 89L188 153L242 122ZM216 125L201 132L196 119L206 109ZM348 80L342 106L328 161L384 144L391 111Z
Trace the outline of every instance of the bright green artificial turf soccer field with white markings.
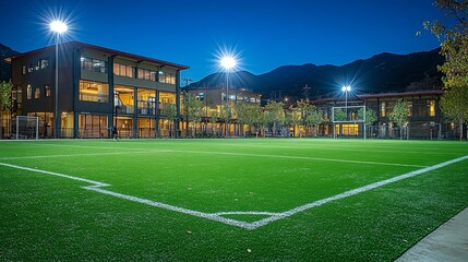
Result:
M468 144L0 142L0 261L393 261L468 206Z

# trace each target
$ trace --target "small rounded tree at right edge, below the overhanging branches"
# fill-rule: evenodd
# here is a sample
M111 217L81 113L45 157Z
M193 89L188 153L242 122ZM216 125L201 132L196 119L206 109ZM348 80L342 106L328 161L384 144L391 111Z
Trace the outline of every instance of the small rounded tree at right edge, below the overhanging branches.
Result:
M464 123L468 121L468 88L464 86L453 86L441 97L441 109L449 121L458 123L463 139Z

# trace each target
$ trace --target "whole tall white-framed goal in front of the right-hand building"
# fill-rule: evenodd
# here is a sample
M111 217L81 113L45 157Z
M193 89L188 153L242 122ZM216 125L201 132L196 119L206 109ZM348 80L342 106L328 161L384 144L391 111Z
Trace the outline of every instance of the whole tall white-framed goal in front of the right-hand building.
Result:
M348 136L358 136L359 130L362 130L365 139L365 106L344 106L332 107L332 122L334 128L334 138L339 134ZM361 129L360 129L361 127ZM336 130L338 128L338 130Z

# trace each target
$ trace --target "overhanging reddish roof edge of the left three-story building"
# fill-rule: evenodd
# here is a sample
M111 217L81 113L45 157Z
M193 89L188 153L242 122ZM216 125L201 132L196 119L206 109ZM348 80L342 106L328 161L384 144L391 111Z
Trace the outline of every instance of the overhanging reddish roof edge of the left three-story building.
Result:
M173 62L168 62L168 61L164 61L164 60L159 60L159 59L143 57L143 56L139 56L139 55L134 55L134 53L130 53L130 52L123 52L123 51L119 51L119 50L115 50L115 49L110 49L110 48L106 48L106 47L94 46L94 45L89 45L89 44L85 44L85 43L81 43L81 41L68 41L68 43L59 44L59 46L60 45L72 45L76 48L89 48L89 49L94 49L94 50L98 50L98 51L109 53L110 56L130 58L130 59L141 61L141 62L156 63L156 64L167 66L167 67L171 67L171 68L176 68L176 69L180 69L180 70L185 70L185 69L190 68L188 66L183 66L183 64L179 64L179 63L173 63ZM27 51L27 52L23 52L23 53L14 56L12 58L14 59L14 58L19 58L19 57L23 57L23 56L27 56L27 55L33 55L33 53L40 52L40 51L44 51L44 50L47 50L50 48L55 48L55 45L44 47L40 49L36 49L36 50L32 50L32 51Z

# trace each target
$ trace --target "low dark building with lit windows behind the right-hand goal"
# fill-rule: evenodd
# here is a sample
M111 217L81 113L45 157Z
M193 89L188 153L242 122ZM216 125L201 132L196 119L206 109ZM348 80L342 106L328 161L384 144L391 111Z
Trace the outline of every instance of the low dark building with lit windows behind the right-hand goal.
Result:
M348 98L347 106L365 106L375 111L377 120L368 127L369 138L399 138L399 128L389 120L395 103L404 99L408 108L409 122L405 128L405 136L410 139L452 138L455 132L453 124L445 123L440 109L441 90L407 93L358 95ZM363 124L357 122L333 122L332 108L344 107L344 97L326 98L312 102L322 111L326 122L321 124L319 133L324 136L362 136Z

